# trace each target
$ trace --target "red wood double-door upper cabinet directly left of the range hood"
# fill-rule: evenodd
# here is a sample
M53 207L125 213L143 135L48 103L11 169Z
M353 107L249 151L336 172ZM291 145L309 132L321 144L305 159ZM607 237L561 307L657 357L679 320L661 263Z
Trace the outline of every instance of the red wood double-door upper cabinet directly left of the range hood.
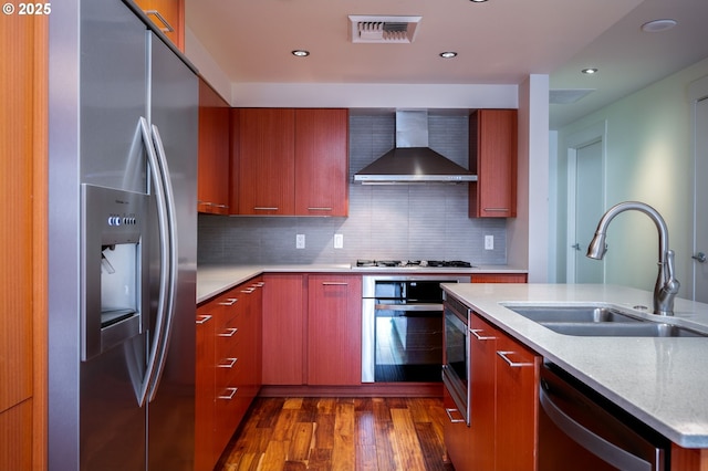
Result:
M347 216L347 109L237 112L232 213Z

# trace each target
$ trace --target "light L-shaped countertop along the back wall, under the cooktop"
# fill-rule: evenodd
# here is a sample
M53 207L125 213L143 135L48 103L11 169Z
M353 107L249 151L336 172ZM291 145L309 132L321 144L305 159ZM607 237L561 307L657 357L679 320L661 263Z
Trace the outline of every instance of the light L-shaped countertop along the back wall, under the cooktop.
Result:
M471 269L381 269L360 268L345 264L290 264L290 265L199 265L197 268L197 304L208 301L244 281L263 273L434 273L434 274L475 274L475 273L527 273L527 270L507 265L481 265Z

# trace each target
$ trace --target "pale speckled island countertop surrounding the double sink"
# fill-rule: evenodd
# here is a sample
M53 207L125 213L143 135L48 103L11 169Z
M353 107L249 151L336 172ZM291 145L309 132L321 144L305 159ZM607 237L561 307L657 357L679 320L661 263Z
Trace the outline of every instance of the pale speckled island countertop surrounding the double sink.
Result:
M581 337L558 334L504 304L652 306L652 293L600 284L447 284L444 290L669 440L708 448L708 337ZM677 299L673 317L708 333L708 304Z

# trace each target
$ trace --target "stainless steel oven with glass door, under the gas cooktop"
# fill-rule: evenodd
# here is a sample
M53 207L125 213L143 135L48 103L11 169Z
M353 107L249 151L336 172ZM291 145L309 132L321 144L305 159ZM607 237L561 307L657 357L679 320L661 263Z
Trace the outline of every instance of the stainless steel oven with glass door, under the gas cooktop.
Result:
M365 275L362 281L362 383L440 381L440 283L469 278Z

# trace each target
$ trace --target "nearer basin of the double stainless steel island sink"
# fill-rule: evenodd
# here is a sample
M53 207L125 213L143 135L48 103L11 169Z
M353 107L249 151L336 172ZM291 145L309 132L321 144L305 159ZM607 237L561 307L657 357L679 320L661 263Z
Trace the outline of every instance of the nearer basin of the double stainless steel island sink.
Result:
M708 337L708 334L690 328L652 321L606 324L542 322L540 324L559 334L582 337Z

